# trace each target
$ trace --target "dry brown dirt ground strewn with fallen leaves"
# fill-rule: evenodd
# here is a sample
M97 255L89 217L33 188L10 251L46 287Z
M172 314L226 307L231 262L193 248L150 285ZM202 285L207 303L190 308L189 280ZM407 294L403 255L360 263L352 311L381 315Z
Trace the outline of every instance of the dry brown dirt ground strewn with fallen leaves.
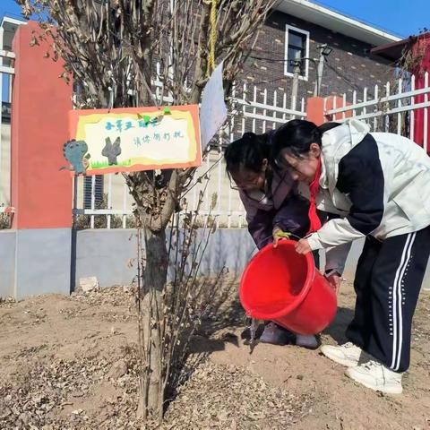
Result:
M133 429L136 417L136 321L133 291L104 288L0 305L0 429ZM323 333L344 341L354 293ZM161 429L430 428L430 293L413 328L411 367L402 396L366 390L318 350L241 339L240 306L215 333L193 340L197 362Z

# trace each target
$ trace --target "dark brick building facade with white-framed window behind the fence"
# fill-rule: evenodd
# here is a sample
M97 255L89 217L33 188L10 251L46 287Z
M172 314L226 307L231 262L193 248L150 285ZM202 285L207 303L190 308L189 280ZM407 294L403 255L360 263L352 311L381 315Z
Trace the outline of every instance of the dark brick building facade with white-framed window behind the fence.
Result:
M371 99L374 85L391 79L394 64L371 56L370 51L375 46L398 40L400 38L395 35L313 2L284 0L260 31L241 80L267 89L269 104L273 103L275 90L286 93L287 107L291 107L294 60L299 60L299 107L302 98L314 96L320 54L326 46L331 53L323 62L319 95L346 93L352 99L354 90L362 95L367 88ZM362 100L357 98L357 101Z

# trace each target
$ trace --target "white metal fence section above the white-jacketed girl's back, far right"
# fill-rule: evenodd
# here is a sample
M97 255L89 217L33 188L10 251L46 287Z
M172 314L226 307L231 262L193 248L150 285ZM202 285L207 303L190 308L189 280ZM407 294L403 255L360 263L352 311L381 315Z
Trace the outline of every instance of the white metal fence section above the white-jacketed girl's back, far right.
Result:
M370 90L373 95L369 97ZM401 134L429 151L428 73L411 74L370 90L365 88L362 94L353 91L349 100L347 94L341 96L341 101L334 98L332 107L324 107L325 115L338 122L353 116L365 121L373 132Z

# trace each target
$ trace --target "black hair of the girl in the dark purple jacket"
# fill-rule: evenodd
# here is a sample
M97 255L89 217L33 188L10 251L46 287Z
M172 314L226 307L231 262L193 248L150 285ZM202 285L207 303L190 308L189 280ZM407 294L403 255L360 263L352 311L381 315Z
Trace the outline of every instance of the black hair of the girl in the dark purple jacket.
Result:
M241 168L259 173L262 170L262 160L270 157L271 146L267 133L245 133L240 139L231 142L224 151L228 176Z

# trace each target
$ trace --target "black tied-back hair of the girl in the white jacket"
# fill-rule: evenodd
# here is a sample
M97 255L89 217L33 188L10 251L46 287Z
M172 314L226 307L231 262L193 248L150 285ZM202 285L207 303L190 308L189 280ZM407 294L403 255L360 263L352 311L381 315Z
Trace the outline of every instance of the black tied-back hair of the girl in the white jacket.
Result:
M291 155L301 158L311 149L312 143L322 145L323 133L337 127L339 123L315 125L311 121L293 119L283 124L271 135L271 160L277 163L282 150L288 149Z

